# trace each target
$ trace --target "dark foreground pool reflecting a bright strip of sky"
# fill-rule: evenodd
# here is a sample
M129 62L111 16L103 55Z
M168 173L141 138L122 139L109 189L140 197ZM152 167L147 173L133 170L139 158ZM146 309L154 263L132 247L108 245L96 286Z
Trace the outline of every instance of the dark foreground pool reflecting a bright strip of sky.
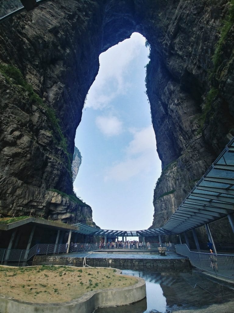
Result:
M99 308L94 311L95 313L170 313L180 310L198 312L200 309L207 309L206 312L214 310L222 313L233 312L233 306L231 303L229 305L229 301L234 296L234 285L208 278L199 271L154 273L123 270L122 272L125 275L145 279L147 299L133 305ZM224 303L227 303L227 308L222 305Z

